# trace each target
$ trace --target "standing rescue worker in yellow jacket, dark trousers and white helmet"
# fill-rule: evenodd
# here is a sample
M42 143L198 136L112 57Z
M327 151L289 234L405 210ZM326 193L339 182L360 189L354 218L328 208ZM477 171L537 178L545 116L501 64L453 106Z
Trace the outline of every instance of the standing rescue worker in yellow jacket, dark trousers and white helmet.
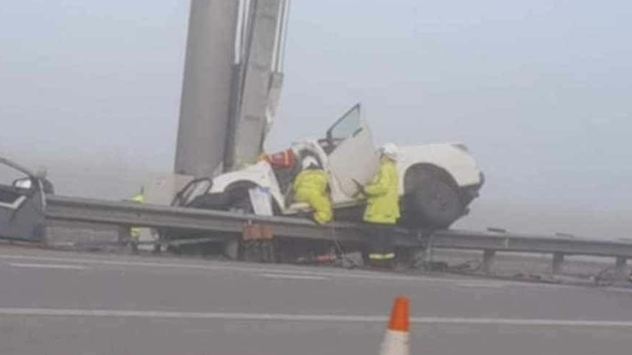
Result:
M398 148L392 143L380 148L380 168L373 180L358 189L367 196L364 221L371 224L368 260L375 265L392 265L395 250L392 246L392 226L400 217Z

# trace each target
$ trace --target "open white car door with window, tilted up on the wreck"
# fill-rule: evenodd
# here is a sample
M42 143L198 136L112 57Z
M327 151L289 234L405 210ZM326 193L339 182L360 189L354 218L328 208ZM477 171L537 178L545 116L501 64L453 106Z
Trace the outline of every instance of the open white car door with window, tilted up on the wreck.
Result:
M367 122L362 117L360 104L356 104L327 131L329 168L344 195L356 195L358 188L353 180L368 183L379 165L379 155Z

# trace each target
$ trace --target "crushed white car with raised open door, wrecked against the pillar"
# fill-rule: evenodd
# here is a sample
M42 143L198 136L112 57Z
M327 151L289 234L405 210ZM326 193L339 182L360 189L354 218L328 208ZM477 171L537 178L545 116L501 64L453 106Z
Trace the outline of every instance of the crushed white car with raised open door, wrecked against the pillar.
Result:
M379 153L361 113L357 104L323 138L293 143L283 153L283 162L262 159L213 179L197 179L178 193L176 204L245 213L300 214L308 206L292 201L291 184L300 172L301 160L312 156L329 174L335 219L359 220L365 201L357 198L353 180L367 183L379 164ZM467 214L468 205L483 184L483 174L465 145L400 146L398 156L401 224L446 228ZM253 189L270 196L269 212L253 206Z

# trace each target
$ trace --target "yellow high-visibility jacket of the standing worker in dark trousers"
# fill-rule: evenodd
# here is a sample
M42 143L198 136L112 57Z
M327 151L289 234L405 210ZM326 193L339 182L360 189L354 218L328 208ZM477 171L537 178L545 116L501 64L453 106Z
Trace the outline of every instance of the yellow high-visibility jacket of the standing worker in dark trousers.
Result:
M395 164L383 157L379 172L364 187L367 193L365 222L395 224L399 219L399 173Z

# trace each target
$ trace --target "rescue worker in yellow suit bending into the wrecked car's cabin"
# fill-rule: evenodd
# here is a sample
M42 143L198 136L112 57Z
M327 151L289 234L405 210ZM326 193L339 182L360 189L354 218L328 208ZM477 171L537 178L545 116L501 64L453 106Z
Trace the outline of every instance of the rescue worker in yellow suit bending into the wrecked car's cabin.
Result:
M331 222L334 214L329 198L329 178L314 157L306 157L303 170L294 180L294 199L306 202L313 208L313 219L319 224Z

